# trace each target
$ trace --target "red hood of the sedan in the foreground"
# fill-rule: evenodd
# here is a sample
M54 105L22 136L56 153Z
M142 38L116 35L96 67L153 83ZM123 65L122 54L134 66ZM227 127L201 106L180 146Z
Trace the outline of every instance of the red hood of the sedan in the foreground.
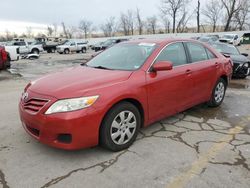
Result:
M37 79L29 90L58 99L82 97L88 91L126 81L131 74L131 71L78 66Z

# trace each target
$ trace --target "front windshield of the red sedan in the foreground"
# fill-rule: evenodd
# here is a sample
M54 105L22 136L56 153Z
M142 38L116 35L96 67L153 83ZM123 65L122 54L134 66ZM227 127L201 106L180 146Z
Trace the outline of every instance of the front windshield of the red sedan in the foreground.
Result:
M90 60L86 65L112 70L136 70L152 54L156 44L119 44L109 48Z

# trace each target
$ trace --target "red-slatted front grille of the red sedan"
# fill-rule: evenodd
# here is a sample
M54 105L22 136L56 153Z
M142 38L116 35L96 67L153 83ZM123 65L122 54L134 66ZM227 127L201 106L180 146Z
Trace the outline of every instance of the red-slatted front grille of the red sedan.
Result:
M49 102L49 100L47 99L32 98L27 102L24 102L23 107L26 111L30 113L37 113L45 106L47 102Z

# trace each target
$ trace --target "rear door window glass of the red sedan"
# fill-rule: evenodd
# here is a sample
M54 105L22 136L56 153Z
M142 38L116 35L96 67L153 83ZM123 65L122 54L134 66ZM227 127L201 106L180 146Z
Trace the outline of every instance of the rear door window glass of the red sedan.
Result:
M188 42L187 47L190 53L192 63L208 59L207 52L202 45Z

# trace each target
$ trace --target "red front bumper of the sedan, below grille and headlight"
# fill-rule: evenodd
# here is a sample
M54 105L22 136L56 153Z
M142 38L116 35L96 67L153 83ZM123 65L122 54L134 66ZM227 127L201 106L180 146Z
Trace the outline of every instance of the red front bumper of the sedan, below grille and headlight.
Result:
M47 104L47 107L50 104ZM32 114L19 103L19 114L26 132L43 144L75 150L98 145L101 112L94 108L45 115L44 109Z

